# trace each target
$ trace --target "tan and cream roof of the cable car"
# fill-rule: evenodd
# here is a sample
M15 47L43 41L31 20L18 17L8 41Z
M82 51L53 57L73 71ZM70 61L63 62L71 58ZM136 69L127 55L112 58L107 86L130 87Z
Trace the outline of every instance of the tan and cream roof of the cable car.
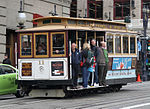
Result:
M59 19L61 20L61 22L53 23L51 21L53 19L54 20ZM48 20L49 22L43 23L46 20ZM126 28L126 23L104 21L91 18L48 16L33 19L33 22L35 21L37 22L37 27L17 30L16 32L83 30L83 31L114 31L114 32L136 33L133 31L128 31ZM74 24L69 24L68 21L73 21Z

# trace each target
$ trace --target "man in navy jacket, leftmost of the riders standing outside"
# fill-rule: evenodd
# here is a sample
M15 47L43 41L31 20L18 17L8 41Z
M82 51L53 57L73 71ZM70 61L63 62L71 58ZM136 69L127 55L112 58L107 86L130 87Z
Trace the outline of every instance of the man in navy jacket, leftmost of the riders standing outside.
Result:
M77 80L78 80L78 73L80 71L80 62L81 62L81 55L79 50L76 48L76 44L72 43L71 45L71 62L72 62L72 75L73 75L73 88L77 88Z

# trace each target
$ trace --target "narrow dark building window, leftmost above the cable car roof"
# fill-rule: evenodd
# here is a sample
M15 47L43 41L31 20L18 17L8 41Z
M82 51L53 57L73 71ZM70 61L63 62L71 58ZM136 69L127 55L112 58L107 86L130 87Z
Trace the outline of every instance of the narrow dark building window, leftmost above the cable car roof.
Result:
M71 2L70 17L77 17L77 0Z

